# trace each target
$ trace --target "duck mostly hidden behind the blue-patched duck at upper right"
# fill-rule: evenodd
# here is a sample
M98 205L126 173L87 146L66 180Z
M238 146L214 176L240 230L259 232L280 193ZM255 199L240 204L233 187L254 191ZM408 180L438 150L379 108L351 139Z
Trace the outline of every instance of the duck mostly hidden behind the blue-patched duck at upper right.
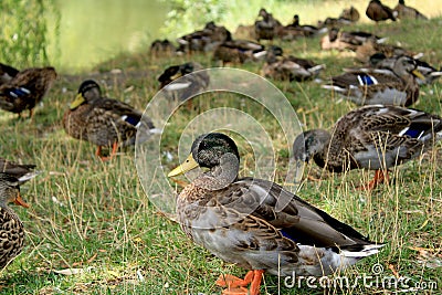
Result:
M383 70L390 70L392 71L396 61L400 56L392 56L392 57L387 57L383 53L375 53L373 55L370 56L369 60L369 70L371 69L383 69ZM418 82L419 85L424 85L424 84L431 84L434 83L439 77L442 76L442 71L436 70L432 65L430 65L428 62L414 59L413 56L409 56L410 59L413 59L418 71L424 76L424 80L417 77L415 81Z

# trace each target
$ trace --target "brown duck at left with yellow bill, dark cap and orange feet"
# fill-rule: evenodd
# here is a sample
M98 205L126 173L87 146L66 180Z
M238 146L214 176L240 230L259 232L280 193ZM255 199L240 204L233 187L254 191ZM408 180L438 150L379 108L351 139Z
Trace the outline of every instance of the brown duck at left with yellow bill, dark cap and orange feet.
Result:
M133 106L102 95L99 85L93 80L84 81L75 99L63 116L63 127L67 135L97 146L96 156L103 161L112 159L118 146L134 145L137 130L138 140L145 141L158 133L152 122ZM109 156L104 156L103 147L110 147Z

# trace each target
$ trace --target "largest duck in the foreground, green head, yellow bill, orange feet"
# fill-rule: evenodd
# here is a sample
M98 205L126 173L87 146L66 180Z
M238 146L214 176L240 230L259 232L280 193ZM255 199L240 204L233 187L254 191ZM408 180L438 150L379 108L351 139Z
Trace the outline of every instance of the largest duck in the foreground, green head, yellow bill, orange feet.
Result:
M181 229L221 260L250 270L244 280L220 276L217 284L229 287L223 294L259 294L264 272L328 275L382 246L272 181L239 178L238 147L224 134L199 136L169 177L197 167L209 171L178 196Z

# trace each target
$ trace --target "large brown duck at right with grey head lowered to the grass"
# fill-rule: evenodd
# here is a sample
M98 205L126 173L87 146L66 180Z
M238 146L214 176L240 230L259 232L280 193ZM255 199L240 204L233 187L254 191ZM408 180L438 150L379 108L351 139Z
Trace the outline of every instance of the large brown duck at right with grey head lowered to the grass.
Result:
M387 169L430 149L442 138L442 118L401 106L371 105L349 112L330 131L307 130L296 137L296 160L314 161L329 171L377 170L364 189L387 178Z

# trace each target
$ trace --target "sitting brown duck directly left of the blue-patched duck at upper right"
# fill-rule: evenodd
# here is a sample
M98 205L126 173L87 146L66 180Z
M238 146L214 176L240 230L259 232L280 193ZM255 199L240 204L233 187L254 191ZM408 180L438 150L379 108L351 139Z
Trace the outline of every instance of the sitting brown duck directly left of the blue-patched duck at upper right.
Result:
M317 77L323 69L325 64L317 64L293 55L283 56L281 48L272 46L267 52L262 72L265 77L274 80L307 81Z

